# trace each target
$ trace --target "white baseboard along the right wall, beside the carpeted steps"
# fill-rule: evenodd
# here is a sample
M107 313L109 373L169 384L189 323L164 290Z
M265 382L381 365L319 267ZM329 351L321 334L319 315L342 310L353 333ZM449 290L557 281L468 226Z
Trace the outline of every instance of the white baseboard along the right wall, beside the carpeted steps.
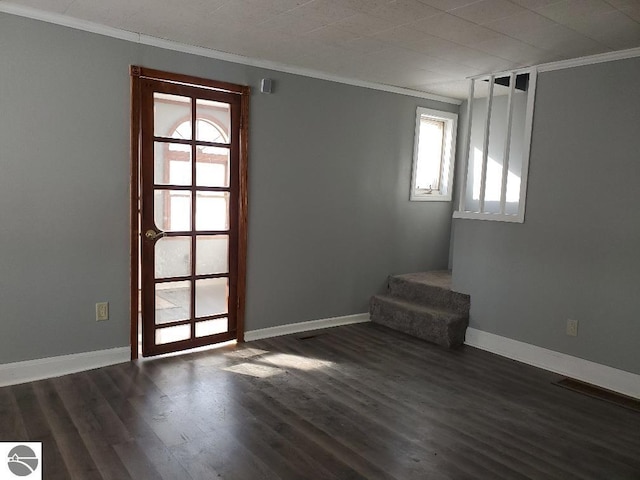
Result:
M640 399L640 375L546 348L467 328L465 345Z

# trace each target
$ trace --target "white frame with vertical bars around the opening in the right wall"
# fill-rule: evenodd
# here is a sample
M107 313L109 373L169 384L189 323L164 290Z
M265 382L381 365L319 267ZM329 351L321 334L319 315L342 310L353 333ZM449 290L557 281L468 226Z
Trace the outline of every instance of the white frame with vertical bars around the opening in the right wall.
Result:
M522 167L521 167L521 178L520 178L520 196L518 202L518 213L516 214L507 214L505 213L505 192L506 192L506 177L509 173L508 168L503 169L502 171L502 192L501 192L501 205L500 205L500 213L489 213L484 211L484 195L485 195L485 185L486 185L486 174L487 174L487 157L489 150L489 131L490 131L490 119L491 119L491 104L493 99L493 85L494 80L500 77L510 77L510 90L509 90L509 99L508 99L508 120L507 120L507 133L505 135L505 159L508 165L508 149L509 149L509 139L511 137L511 114L512 114L512 102L511 99L513 97L514 88L515 88L515 80L516 76L528 73L529 74L529 87L528 87L528 97L527 97L527 110L525 112L525 126L524 126L524 149L522 152ZM458 210L453 212L453 218L464 218L469 220L492 220L498 222L513 222L513 223L524 223L524 213L525 207L527 203L527 183L529 176L529 156L531 152L531 133L533 129L533 111L536 97L536 82L537 82L538 71L536 68L526 68L519 69L510 72L503 72L492 75L481 75L478 77L472 77L469 81L469 99L467 101L467 131L465 132L465 161L463 166L463 174L460 179L460 201L458 205ZM469 150L471 143L471 121L473 119L473 98L474 98L474 86L475 82L479 81L488 81L489 82L489 97L487 101L487 113L485 117L485 132L484 132L484 150L483 150L483 158L482 158L482 178L481 178L481 187L480 187L480 211L469 211L466 210L465 202L466 202L466 189L467 189L467 181L468 181L468 173L469 173Z

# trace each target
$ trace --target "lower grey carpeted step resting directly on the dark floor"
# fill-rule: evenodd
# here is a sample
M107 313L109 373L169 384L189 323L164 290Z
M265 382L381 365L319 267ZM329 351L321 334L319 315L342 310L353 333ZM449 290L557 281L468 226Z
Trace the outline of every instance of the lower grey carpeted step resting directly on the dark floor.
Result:
M454 348L464 343L469 316L391 295L371 298L371 321L414 337Z

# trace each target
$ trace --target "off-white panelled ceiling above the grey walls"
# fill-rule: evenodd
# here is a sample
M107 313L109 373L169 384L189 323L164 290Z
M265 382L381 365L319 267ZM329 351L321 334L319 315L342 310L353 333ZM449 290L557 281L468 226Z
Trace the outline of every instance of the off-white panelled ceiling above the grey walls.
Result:
M464 98L468 76L640 46L640 0L12 0L131 32Z

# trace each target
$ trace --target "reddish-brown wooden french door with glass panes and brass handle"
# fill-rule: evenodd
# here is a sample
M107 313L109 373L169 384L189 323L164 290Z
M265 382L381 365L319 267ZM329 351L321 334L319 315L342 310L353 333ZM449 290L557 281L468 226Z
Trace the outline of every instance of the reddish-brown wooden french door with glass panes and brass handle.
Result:
M132 75L142 355L242 340L248 88Z

